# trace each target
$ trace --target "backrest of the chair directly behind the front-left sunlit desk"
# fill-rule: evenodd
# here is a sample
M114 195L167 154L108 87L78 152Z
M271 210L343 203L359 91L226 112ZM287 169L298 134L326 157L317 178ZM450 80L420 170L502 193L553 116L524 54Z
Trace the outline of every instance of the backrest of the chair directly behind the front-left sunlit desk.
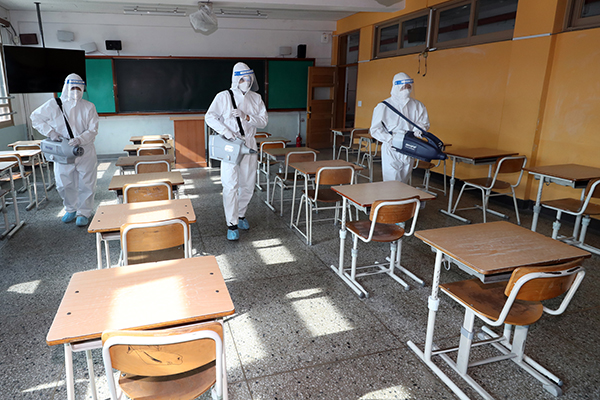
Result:
M129 223L121 226L123 264L189 258L187 218Z

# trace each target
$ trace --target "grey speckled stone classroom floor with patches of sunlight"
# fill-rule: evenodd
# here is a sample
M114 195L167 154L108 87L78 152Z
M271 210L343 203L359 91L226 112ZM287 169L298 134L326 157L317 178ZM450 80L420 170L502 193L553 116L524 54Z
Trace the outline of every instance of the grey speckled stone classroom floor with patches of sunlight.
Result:
M324 151L319 158L330 156ZM107 190L116 173L114 161L100 161L97 204L116 202ZM198 219L192 228L193 255L217 257L236 306L236 313L225 320L230 399L456 398L406 344L412 340L421 345L425 338L434 264L428 246L414 237L402 246L403 264L425 280L425 287L408 280L411 290L405 291L389 277L366 277L362 283L371 296L361 300L329 268L337 263L339 251L338 231L331 222L316 223L313 245L307 246L289 228L289 203L280 217L263 204L265 193L257 191L247 213L250 230L238 242L228 242L219 170L182 173L180 196L192 200ZM415 173L413 183L420 183L421 175ZM377 168L375 179L380 177ZM467 196L465 203L476 200ZM441 194L429 202L417 229L459 225L438 212L446 206ZM494 207L515 221L514 210ZM59 221L63 210L55 190L37 211L21 208L26 225L12 239L0 241L0 399L66 399L63 349L49 347L45 338L71 275L96 267L95 240L85 229ZM463 215L481 221L480 211ZM521 218L523 226L531 225L531 211L522 211ZM498 218L488 219L494 220ZM542 217L538 232L550 235L551 224ZM590 244L599 241L597 232L588 234ZM118 243L110 246L116 263ZM359 263L384 261L388 251L387 245L376 243L359 248ZM600 398L599 265L598 256L586 260L587 275L567 311L544 316L530 331L527 353L562 378L565 400ZM457 269L442 273L442 281L464 278ZM456 343L462 315L442 297L436 341ZM100 351L93 356L98 398L107 399ZM76 398L90 399L81 353L75 354L74 364ZM554 398L510 361L472 372L497 399ZM479 398L455 378L467 394Z

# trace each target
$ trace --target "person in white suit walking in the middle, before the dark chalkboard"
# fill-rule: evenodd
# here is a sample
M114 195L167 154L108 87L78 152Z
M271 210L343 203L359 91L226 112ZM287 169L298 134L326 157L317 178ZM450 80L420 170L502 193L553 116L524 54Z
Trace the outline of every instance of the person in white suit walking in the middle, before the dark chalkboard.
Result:
M257 150L256 129L267 126L267 108L258 93L258 83L246 64L237 63L233 67L231 92L235 105L231 101L228 90L218 93L204 120L227 139L243 138L246 146ZM238 127L241 121L244 135ZM223 185L223 208L227 220L227 239L238 240L239 229L250 229L246 220L248 203L254 194L256 182L257 154L246 154L239 164L221 163L221 184Z

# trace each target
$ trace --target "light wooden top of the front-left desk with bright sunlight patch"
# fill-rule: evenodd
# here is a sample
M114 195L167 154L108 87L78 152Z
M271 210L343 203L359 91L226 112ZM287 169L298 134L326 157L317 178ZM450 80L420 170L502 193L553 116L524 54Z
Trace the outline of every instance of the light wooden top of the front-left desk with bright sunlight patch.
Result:
M214 256L77 272L46 343L100 339L107 329L166 328L234 312Z

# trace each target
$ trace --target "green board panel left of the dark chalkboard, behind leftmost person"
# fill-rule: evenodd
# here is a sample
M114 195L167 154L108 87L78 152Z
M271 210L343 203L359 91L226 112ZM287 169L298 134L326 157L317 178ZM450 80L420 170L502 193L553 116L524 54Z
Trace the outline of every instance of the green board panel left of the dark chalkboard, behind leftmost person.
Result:
M98 113L114 113L115 92L111 59L85 60L88 100L94 103Z

